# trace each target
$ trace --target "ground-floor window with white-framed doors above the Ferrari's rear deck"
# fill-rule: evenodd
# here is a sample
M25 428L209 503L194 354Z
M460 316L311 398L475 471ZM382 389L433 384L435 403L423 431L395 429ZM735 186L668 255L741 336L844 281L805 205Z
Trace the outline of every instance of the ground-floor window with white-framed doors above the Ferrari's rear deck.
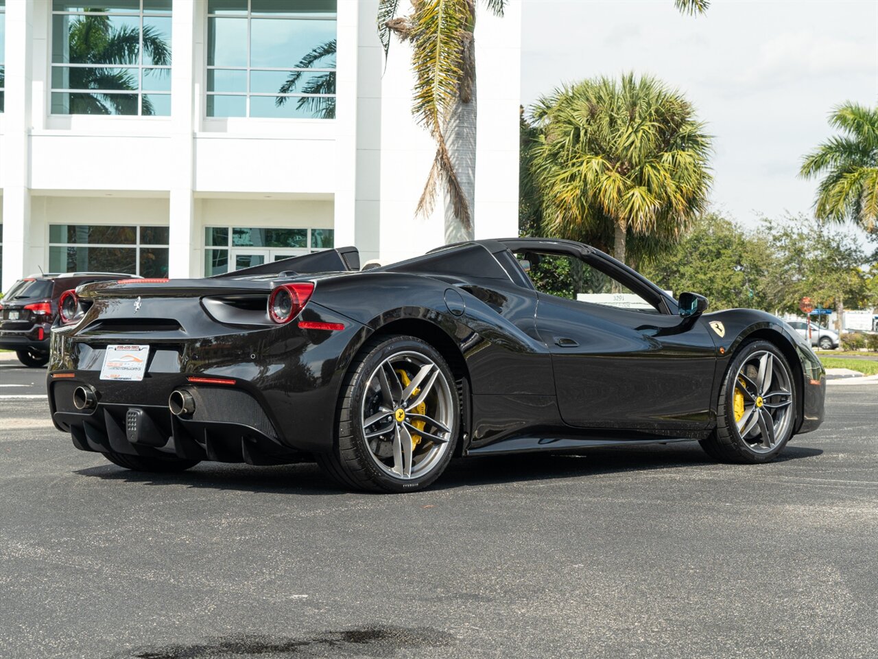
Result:
M205 277L331 249L331 228L205 227Z

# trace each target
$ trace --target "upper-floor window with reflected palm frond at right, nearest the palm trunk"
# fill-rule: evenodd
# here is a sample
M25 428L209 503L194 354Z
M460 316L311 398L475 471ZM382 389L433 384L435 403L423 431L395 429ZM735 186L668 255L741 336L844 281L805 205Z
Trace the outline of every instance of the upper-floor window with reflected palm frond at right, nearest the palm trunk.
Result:
M336 0L208 0L207 116L335 119Z

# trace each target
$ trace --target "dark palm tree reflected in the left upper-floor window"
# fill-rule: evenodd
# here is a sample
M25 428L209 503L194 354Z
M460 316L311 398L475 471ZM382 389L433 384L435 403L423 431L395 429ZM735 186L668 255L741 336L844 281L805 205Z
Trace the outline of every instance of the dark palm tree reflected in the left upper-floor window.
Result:
M166 38L153 25L143 26L143 50L156 66L170 64L170 47ZM76 112L83 114L137 114L140 85L137 73L125 69L109 69L100 64L130 66L139 63L140 29L127 25L113 27L108 16L78 17L68 28L69 59L72 64L93 64L94 67L70 67L67 89L93 90L77 95ZM167 69L165 69L167 70ZM169 73L169 71L168 71ZM133 94L104 93L133 91ZM143 114L155 111L147 97L143 98Z

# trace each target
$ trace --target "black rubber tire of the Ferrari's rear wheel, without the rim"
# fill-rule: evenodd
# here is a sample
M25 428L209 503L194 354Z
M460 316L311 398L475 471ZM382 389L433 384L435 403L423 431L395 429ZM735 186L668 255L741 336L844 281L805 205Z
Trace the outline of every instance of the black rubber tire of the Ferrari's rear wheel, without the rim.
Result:
M442 371L450 385L452 400L452 424L447 449L428 473L416 479L406 480L385 473L372 458L369 446L363 436L363 394L367 379L386 359L398 352L419 352L431 359ZM457 397L454 376L443 356L435 348L416 337L385 336L371 339L351 363L348 374L342 383L336 412L335 445L331 453L315 455L317 464L335 482L346 489L360 489L371 492L414 492L427 488L443 473L454 454L457 435L460 432L460 402Z

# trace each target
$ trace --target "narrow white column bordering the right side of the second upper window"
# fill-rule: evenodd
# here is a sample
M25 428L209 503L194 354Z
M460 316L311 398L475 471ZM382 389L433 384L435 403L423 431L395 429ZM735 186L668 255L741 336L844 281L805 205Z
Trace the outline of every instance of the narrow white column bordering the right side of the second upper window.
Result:
M357 0L339 0L335 74L335 246L356 241L356 25Z

